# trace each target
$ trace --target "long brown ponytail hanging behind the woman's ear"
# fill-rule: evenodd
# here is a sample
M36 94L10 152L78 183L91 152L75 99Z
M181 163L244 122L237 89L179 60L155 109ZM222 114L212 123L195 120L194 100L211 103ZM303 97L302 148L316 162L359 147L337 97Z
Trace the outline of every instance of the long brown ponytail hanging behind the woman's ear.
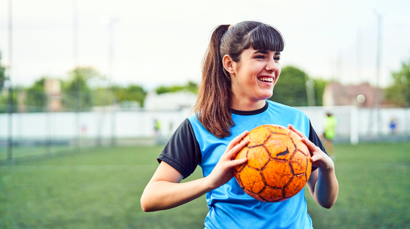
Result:
M220 45L230 25L218 26L202 60L202 82L193 111L198 121L217 138L231 135L231 76L223 68Z

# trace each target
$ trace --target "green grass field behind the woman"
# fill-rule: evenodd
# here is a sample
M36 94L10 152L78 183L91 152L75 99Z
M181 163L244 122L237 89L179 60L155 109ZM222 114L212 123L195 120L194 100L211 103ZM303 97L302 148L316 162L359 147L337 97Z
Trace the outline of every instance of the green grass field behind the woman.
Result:
M141 210L161 150L88 148L0 166L0 228L203 228L204 196L172 210ZM410 228L410 143L335 151L340 188L333 208L319 207L306 192L314 227ZM187 180L201 176L197 169Z

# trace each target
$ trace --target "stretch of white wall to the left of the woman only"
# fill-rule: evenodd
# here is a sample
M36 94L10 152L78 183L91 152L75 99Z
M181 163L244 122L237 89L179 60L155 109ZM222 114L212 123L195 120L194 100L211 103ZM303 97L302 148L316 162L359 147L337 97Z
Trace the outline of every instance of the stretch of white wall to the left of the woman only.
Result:
M190 109L172 111L117 111L112 112L55 112L14 113L12 136L17 139L71 139L150 137L155 135L155 120L161 122L160 132L170 136L179 124L188 117ZM0 139L8 136L8 114L0 114Z

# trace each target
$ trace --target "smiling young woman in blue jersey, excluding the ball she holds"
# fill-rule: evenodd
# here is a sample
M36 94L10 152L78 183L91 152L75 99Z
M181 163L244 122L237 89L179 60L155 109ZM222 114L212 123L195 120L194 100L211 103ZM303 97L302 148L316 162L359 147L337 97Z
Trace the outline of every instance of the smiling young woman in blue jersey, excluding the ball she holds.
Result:
M282 35L255 21L221 25L204 57L194 107L158 157L159 167L141 196L144 211L177 207L206 194L205 228L313 228L304 190L277 203L250 197L233 178L233 160L248 141L248 130L264 124L288 126L302 137L312 157L307 182L312 197L331 208L338 194L332 159L300 110L268 101L280 74ZM306 136L309 136L306 137ZM199 165L203 178L180 183Z

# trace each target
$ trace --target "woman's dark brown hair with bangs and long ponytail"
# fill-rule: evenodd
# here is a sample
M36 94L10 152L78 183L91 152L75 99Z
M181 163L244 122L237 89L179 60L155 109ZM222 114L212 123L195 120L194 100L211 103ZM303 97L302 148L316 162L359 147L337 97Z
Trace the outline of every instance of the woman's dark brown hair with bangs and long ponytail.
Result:
M242 21L229 28L215 28L202 60L202 81L193 111L198 121L217 138L231 135L231 75L223 68L222 58L229 55L239 62L246 49L283 51L284 40L274 27L257 21ZM229 28L229 30L228 30Z

